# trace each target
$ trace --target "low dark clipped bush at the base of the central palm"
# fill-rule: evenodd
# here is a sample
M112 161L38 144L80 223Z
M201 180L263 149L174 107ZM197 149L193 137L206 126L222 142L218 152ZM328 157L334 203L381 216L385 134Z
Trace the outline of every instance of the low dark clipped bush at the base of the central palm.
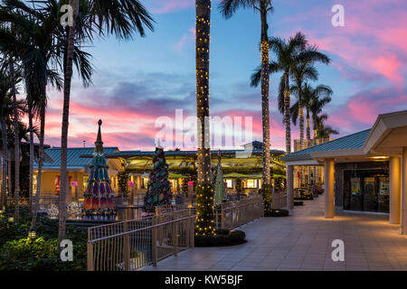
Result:
M246 234L241 230L218 229L215 236L195 236L195 247L224 247L246 243Z

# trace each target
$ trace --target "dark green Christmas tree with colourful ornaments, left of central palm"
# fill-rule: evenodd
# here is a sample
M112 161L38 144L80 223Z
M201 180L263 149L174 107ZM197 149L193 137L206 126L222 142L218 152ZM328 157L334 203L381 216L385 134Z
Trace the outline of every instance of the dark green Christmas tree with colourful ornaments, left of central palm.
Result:
M153 159L154 168L147 182L147 192L144 198L143 210L154 212L156 206L170 205L172 199L171 183L168 181L168 164L164 149L158 144Z

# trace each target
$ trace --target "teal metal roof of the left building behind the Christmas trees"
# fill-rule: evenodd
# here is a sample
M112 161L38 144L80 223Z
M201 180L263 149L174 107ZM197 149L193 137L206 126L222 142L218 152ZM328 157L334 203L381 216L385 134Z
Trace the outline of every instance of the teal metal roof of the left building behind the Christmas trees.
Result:
M105 154L113 154L118 152L118 147L104 147ZM69 168L83 168L90 166L92 163L91 158L81 158L82 154L93 154L94 147L71 147L68 148L68 167ZM58 168L61 167L61 147L52 147L45 149L44 152L48 154L52 162L43 163L44 168ZM34 163L37 166L37 163Z

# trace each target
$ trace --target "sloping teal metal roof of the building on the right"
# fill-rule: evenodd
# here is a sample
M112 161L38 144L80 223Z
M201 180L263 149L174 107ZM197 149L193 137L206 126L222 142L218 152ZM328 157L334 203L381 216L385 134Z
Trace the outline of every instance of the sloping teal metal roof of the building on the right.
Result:
M366 129L359 133L353 135L346 135L340 138L336 138L330 142L324 144L317 144L311 147L308 147L302 151L298 151L281 158L282 161L299 161L299 160L308 160L311 159L310 153L316 152L329 152L329 151L343 151L362 148L364 142L367 139L371 129Z

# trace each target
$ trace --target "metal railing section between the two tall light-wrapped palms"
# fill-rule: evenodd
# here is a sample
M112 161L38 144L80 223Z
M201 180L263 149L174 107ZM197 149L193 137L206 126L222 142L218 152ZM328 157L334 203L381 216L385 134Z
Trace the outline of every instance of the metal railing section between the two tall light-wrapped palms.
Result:
M215 209L215 228L232 229L264 216L264 201L260 195L228 201Z

